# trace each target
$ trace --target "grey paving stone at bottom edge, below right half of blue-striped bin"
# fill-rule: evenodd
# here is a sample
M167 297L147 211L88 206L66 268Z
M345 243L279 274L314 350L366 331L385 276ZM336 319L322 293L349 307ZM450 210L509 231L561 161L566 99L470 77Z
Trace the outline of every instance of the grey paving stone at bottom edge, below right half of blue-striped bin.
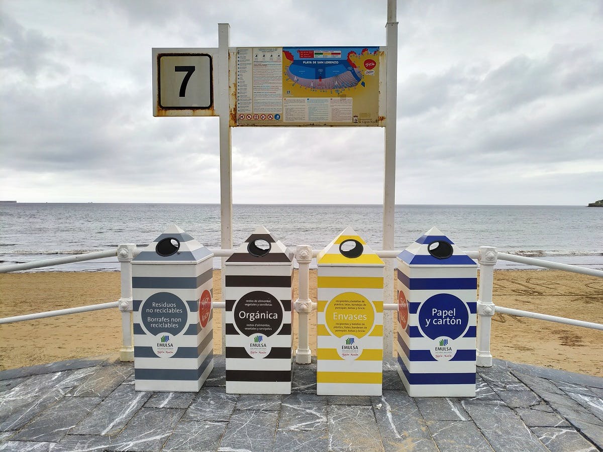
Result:
M490 444L472 421L428 421L427 425L442 451L492 452Z

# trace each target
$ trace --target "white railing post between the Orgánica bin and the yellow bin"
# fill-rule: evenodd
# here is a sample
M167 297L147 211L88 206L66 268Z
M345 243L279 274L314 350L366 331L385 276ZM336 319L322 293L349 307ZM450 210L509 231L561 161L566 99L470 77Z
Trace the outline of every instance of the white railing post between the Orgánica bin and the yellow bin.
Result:
M297 300L293 304L295 312L297 312L297 350L295 350L295 362L298 364L309 364L312 362L308 331L308 315L312 312L312 300L309 297L309 268L310 262L312 262L312 246L297 246L295 260L297 260L300 267L297 271Z

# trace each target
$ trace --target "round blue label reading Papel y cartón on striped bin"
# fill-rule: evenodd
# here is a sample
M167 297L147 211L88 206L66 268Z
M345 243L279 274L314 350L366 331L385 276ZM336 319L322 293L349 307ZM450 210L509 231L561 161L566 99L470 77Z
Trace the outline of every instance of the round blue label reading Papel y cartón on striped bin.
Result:
M450 293L438 293L425 300L418 309L418 326L430 339L441 336L456 339L468 325L467 305Z

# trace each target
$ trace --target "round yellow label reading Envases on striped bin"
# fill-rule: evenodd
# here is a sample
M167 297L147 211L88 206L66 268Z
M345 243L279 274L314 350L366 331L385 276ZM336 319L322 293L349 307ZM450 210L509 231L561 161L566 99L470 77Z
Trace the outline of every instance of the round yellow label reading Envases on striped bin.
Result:
M373 304L359 293L339 293L324 309L327 328L333 336L352 334L366 336L373 329L375 310Z

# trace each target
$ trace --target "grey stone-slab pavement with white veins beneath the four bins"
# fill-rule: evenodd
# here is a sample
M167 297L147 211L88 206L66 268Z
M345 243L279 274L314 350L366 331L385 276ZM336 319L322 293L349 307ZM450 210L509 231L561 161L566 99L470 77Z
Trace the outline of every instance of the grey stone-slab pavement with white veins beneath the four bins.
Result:
M381 397L224 391L224 357L197 394L134 391L133 366L71 360L0 372L0 451L596 451L603 378L494 360L475 398L411 398L384 363Z

